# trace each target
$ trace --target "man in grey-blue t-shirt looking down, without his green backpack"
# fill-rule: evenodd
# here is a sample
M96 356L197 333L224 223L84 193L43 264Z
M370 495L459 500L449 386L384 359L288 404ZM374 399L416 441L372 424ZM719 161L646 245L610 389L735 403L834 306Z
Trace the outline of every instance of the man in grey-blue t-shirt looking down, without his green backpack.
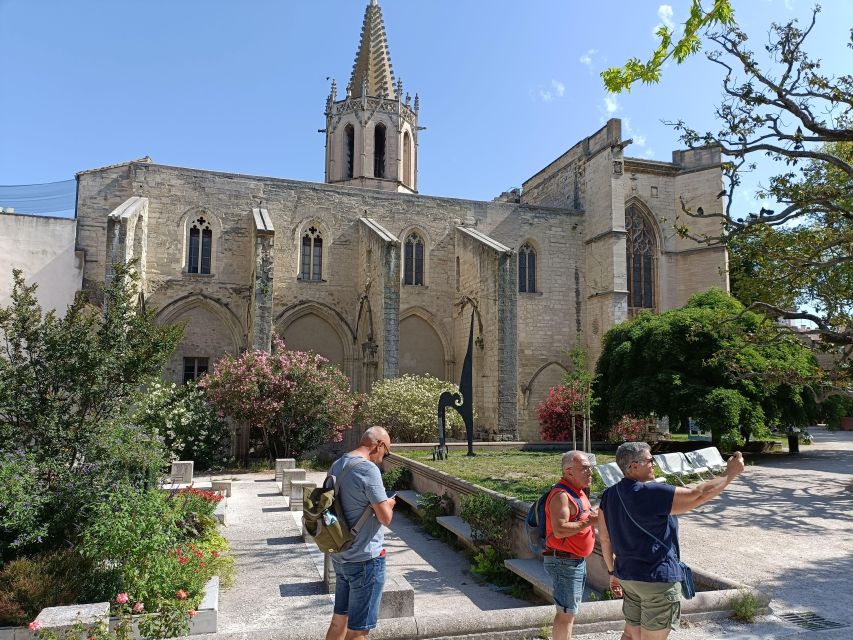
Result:
M364 432L358 447L332 464L344 519L361 524L352 544L332 554L335 607L326 640L367 638L376 627L385 584L385 535L396 501L388 497L378 465L390 453L391 438L382 427Z

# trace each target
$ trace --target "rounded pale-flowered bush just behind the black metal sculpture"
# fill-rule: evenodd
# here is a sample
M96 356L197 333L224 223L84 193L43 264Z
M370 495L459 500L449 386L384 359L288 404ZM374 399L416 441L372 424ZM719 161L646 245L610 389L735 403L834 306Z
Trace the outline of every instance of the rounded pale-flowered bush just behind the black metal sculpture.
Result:
M436 442L438 440L438 397L443 391L457 393L459 387L430 375L403 375L373 384L364 417L370 424L388 430L395 442ZM460 438L465 433L462 417L447 409L447 436Z

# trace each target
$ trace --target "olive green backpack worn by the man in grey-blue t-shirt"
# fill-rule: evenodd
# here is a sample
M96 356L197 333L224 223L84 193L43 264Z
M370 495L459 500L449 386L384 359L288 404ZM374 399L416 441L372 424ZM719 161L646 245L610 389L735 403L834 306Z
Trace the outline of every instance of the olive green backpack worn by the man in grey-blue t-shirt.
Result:
M348 528L341 506L341 482L350 470L362 462L367 460L362 458L349 463L338 478L329 473L322 487L317 487L302 497L302 524L323 553L340 553L349 549L355 536L373 513L368 505L356 525Z

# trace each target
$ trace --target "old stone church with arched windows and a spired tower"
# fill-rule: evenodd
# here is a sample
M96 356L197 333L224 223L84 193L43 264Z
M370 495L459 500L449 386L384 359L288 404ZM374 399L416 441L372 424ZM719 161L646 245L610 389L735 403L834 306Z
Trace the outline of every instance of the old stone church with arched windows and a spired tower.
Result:
M429 373L458 382L474 322L477 437L538 440L536 405L583 345L648 310L728 288L724 249L679 237L680 198L719 213L719 151L630 158L610 120L480 202L418 192L416 96L395 82L381 9L366 8L352 76L325 103L325 183L158 165L78 174L83 288L138 259L140 294L186 322L166 376L269 349L273 332L368 391ZM695 233L714 230L699 219Z

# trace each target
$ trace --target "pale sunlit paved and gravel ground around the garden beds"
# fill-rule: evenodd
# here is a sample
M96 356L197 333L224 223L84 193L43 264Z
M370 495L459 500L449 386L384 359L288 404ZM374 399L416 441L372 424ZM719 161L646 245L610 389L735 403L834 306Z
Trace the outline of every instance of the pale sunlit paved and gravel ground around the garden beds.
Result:
M723 496L679 518L686 561L764 589L773 613L754 625L693 623L671 638L853 637L853 433L814 430L814 436L799 456L747 466ZM298 630L299 637L322 638L331 617L330 596L277 489L272 472L234 483L224 533L237 561L237 582L221 595L220 634L274 638L276 629L287 629L288 637ZM532 606L478 584L464 555L405 516L394 518L386 540L389 573L404 576L415 590L415 616L464 620L466 614L473 619L475 613ZM777 614L785 612L814 612L850 626L806 631L781 620ZM582 637L614 640L620 632Z

